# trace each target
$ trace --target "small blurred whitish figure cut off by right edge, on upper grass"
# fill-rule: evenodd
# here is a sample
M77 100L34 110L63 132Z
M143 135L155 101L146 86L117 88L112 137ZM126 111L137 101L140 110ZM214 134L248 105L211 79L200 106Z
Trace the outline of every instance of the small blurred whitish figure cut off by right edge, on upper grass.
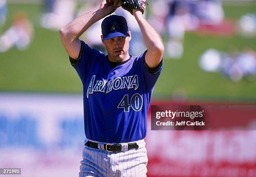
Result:
M246 37L256 36L256 15L246 14L239 20L240 33Z

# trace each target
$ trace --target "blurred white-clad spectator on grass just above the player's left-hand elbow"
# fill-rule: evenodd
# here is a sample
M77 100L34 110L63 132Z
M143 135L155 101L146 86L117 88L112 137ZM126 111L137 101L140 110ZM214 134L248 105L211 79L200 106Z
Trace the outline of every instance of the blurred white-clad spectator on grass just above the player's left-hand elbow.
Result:
M51 30L59 30L73 19L76 4L76 0L46 1L46 12L40 18L41 26Z

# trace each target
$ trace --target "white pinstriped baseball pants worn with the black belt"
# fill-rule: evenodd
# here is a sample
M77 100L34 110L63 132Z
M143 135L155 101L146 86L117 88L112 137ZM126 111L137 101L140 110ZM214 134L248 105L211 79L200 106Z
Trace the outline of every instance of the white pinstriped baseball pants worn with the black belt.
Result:
M136 142L138 149L121 152L108 152L85 146L79 177L146 177L148 157L145 141Z

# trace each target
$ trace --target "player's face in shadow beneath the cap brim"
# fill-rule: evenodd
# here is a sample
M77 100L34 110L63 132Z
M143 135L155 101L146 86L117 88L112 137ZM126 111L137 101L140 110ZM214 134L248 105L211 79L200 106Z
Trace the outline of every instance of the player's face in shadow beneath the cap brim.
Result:
M114 37L108 40L102 40L108 51L108 58L113 62L121 62L129 59L129 41L128 37Z

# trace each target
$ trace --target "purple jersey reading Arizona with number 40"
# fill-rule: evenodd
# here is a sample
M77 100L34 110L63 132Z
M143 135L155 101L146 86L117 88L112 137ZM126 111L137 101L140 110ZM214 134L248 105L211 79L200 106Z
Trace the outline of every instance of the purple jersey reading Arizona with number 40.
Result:
M113 68L108 55L81 41L79 58L70 61L83 83L88 139L123 143L146 137L148 107L163 62L156 72L149 72L145 54Z

